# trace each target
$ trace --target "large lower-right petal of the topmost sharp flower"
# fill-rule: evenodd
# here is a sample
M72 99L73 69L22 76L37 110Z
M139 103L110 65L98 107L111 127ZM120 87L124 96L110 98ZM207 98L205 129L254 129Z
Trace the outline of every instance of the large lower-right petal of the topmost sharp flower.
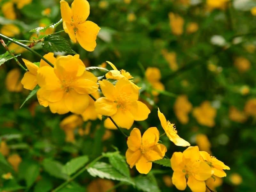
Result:
M85 21L79 24L76 31L76 39L86 51L94 51L99 31L100 27L96 23Z

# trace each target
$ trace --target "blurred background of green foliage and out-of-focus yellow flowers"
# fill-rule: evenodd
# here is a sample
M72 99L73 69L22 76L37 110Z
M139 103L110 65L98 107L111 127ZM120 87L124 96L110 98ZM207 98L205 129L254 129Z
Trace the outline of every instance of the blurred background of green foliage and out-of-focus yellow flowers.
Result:
M110 70L107 60L134 76L134 82L142 87L140 98L151 113L146 121L135 122L132 127L144 132L157 126L163 133L157 117L159 107L176 125L180 137L230 167L227 177L207 181L209 187L218 192L255 191L256 1L90 0L89 3L88 20L101 28L95 51L87 52L79 44L73 44L65 32L58 35L68 40L86 67ZM60 3L54 0L1 0L0 6L0 33L19 40L38 40L53 33L51 28L39 34L29 31L61 18ZM62 29L61 24L54 32ZM13 43L8 47L21 54L18 57L21 63L21 58L40 61ZM47 53L41 43L33 49L42 55ZM4 52L0 47L0 53ZM100 70L93 73L105 75ZM89 155L93 159L102 152L114 151L113 146L125 154L126 140L120 132L105 129L100 120L52 114L49 108L38 104L35 96L20 108L29 94L20 83L23 74L14 60L0 67L3 190L50 191L64 182L66 178L58 172L59 167L73 157ZM173 145L167 137L162 142L168 148L169 158L173 152L185 149ZM131 170L131 175L138 175L136 169ZM157 184L161 191L177 191L171 176L170 168L154 164L150 183ZM107 191L117 183L93 178L85 172L62 190ZM153 189L140 183L135 188L122 185L114 190Z

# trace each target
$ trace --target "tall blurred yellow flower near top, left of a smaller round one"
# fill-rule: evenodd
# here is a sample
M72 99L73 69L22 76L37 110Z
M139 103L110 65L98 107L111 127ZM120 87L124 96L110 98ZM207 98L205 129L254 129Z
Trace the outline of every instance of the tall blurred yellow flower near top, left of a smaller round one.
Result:
M169 20L170 20L170 26L172 28L172 33L174 35L178 35L178 36L182 35L184 19L182 17L180 17L180 15L170 12Z

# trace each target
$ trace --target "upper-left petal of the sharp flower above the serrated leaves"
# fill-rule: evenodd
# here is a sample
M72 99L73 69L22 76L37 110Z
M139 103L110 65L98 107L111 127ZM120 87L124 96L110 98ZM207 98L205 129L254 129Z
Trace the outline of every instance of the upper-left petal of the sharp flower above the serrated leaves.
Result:
M141 133L137 128L133 128L130 136L127 138L127 146L132 151L137 151L141 146Z

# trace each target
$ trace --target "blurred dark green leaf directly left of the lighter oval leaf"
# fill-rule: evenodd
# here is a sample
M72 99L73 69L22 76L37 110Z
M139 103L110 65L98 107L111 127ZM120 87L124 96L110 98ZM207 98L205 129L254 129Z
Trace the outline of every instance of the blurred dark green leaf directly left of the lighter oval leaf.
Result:
M51 159L44 159L43 167L44 167L44 171L48 172L53 177L64 179L64 180L68 179L68 175L65 173L62 173L63 165L58 161L51 160Z

